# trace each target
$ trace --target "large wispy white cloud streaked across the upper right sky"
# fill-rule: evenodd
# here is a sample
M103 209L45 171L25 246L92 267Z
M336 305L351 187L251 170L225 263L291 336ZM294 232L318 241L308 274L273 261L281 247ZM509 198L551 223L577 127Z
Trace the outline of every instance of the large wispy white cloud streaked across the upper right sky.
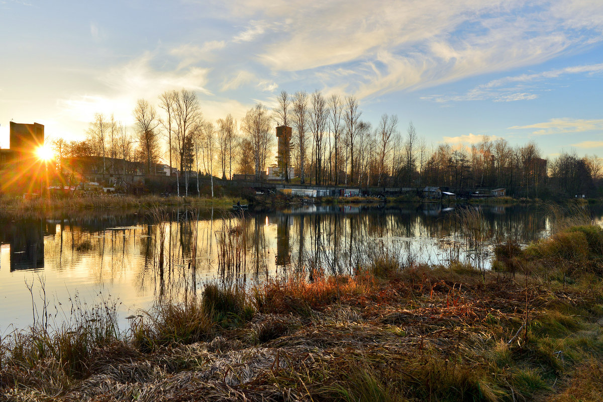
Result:
M601 7L592 5L592 12L603 16ZM300 72L302 79L318 77L341 87L345 78L339 69L352 70L354 79L345 85L361 98L531 66L603 39L576 31L581 26L603 28L603 17L584 13L572 0L555 5L520 0L333 0L311 5L254 0L234 2L230 11L235 19L250 17L233 40L253 44L253 54L274 73ZM510 102L538 96L522 88L499 92L478 87L453 100Z

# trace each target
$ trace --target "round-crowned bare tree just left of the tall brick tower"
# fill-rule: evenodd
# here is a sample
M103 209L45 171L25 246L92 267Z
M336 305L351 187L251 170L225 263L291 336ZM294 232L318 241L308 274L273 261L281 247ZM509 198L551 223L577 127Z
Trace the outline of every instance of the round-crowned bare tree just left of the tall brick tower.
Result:
M268 110L262 104L257 104L248 110L241 122L242 131L251 141L256 180L261 178L262 172L266 169L266 160L273 140L270 125Z

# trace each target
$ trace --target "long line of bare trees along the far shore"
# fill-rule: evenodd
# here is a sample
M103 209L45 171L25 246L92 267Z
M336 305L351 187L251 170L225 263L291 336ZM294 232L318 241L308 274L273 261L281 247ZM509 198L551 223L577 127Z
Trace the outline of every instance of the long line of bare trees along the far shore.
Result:
M227 114L215 122L204 118L192 90L165 91L156 105L139 99L134 125L97 113L86 139L54 141L58 164L67 158L95 156L101 173L156 173L160 160L174 167L188 192L191 175L232 179L233 174L263 178L276 162L274 126L292 128L279 170L283 181L358 187L504 187L526 197L592 194L601 185L601 158L561 152L545 159L533 141L513 146L504 138L484 136L471 146L428 145L412 122L399 127L396 114L373 123L362 119L355 96L321 91L281 91L276 106L256 104L241 122ZM102 166L100 165L102 161ZM116 163L121 161L121 163ZM295 178L289 178L289 168ZM195 172L195 173L194 173ZM179 191L179 190L178 190Z

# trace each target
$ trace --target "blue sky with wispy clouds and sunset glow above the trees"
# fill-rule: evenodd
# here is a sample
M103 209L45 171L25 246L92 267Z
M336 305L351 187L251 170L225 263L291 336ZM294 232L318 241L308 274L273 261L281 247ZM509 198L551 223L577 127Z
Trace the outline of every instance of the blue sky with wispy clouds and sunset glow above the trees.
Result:
M428 144L603 156L603 1L0 0L3 148L11 120L81 140L180 88L212 121L321 90Z

